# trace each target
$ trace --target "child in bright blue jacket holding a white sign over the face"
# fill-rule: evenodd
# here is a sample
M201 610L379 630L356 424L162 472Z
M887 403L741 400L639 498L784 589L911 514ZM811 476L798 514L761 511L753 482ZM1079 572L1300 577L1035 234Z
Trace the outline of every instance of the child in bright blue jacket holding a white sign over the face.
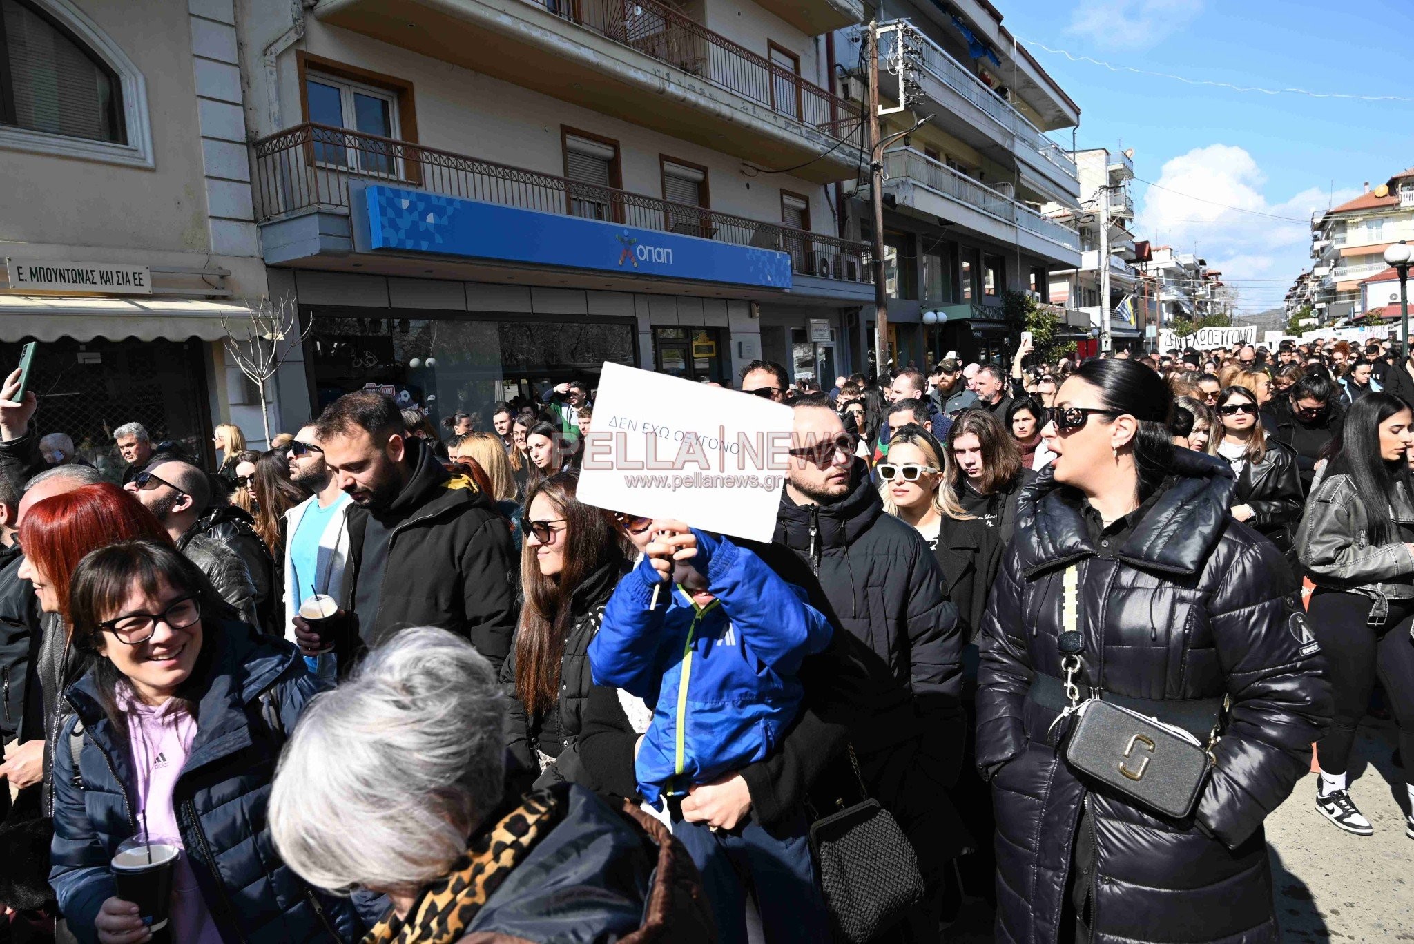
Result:
M800 661L823 650L831 634L805 592L755 553L683 528L655 538L614 590L590 643L594 682L622 688L653 709L635 759L638 788L653 805L666 798L673 834L703 873L723 941L745 940L748 892L766 940L829 938L803 817L775 835L749 818L717 831L683 819L679 804L694 785L776 749L800 708Z

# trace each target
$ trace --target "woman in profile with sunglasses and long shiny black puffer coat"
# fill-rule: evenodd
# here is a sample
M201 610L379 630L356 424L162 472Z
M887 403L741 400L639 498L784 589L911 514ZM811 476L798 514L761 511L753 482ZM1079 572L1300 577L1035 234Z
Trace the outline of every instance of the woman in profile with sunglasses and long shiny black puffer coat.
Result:
M1087 361L1052 418L1060 454L1021 495L983 621L997 940L1275 944L1261 824L1331 716L1324 661L1291 628L1295 580L1233 522L1227 467L1174 447L1154 371ZM1099 696L1200 744L1220 725L1191 815L1157 815L1066 761L1069 654L1076 702Z

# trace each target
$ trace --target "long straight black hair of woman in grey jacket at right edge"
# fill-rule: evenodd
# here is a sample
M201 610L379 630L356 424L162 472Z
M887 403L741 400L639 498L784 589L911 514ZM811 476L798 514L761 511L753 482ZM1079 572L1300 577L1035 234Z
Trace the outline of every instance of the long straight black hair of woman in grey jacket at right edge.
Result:
M1397 484L1410 491L1410 468L1404 460L1384 461L1380 454L1380 423L1408 405L1391 393L1366 393L1345 412L1345 422L1326 444L1331 463L1326 477L1349 476L1355 494L1365 505L1372 545L1397 538L1389 508Z

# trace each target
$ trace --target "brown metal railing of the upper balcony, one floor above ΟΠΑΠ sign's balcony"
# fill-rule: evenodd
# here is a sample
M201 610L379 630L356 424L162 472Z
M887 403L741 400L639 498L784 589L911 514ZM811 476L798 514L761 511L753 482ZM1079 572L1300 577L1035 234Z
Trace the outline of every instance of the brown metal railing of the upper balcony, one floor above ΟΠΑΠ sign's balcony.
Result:
M708 79L837 140L847 140L860 132L863 110L858 105L807 82L658 0L526 3Z

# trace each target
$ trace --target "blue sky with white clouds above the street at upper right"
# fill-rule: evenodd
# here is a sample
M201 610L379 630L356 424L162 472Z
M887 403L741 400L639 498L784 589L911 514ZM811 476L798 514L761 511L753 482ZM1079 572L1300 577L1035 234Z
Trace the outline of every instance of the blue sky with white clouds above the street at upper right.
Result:
M1199 251L1241 307L1281 303L1308 259L1301 222L1414 166L1414 100L1193 86L1072 62L1036 44L1243 86L1414 99L1411 0L997 0L1080 105L1080 147L1133 147L1138 238ZM1070 132L1053 137L1069 147ZM1171 191L1206 197L1200 202ZM1225 209L1284 217L1273 219Z

